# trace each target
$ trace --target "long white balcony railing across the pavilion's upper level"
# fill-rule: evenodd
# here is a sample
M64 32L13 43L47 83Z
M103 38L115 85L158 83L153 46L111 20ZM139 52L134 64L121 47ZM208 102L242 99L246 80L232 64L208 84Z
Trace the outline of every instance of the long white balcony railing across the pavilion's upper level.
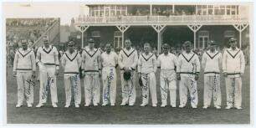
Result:
M206 23L206 24L220 24L220 23L248 23L247 15L181 15L181 16L115 16L115 17L87 17L76 18L76 24L179 24L179 23Z

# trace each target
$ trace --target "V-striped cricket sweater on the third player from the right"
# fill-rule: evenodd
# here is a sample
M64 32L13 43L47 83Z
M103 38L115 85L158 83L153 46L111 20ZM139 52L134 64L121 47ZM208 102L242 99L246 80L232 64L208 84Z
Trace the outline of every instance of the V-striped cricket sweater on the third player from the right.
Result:
M189 74L199 74L200 61L197 54L192 51L187 54L183 52L177 59L177 74L188 76Z

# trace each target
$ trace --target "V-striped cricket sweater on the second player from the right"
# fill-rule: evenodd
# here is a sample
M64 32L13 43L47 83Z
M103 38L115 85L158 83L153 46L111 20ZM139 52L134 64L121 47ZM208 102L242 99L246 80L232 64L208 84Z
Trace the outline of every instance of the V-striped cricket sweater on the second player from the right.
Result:
M213 53L207 50L202 54L202 69L204 74L219 74L222 64L222 54L215 50Z

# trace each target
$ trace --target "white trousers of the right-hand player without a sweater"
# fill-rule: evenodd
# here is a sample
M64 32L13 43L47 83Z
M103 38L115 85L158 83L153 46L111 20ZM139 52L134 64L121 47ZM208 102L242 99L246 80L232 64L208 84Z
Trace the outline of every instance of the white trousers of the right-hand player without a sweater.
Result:
M168 92L170 92L170 103L176 106L177 80L176 73L172 70L161 70L160 73L161 104L167 105Z

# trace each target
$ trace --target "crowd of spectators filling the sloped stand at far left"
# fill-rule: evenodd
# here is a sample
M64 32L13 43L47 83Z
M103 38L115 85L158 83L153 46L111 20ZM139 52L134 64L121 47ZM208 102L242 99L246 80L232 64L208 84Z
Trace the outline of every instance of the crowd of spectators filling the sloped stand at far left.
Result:
M15 51L21 47L21 38L26 38L28 47L31 47L55 21L55 18L8 18L6 20L8 65L13 65Z

